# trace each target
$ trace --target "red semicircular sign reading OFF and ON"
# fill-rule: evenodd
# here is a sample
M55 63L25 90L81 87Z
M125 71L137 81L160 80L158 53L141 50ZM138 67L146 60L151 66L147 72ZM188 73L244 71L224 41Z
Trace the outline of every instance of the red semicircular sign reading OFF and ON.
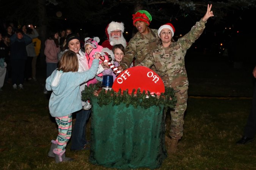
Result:
M112 86L112 89L116 92L121 89L122 91L128 89L128 93L132 93L132 90L137 89L150 91L151 94L160 95L165 92L165 86L162 79L151 69L144 66L135 66L128 68L120 73Z

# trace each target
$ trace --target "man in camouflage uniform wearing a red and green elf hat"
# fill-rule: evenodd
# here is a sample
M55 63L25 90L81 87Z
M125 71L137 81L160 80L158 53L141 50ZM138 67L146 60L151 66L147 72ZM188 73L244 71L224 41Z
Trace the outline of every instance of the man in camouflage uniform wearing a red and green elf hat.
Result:
M140 10L132 16L133 25L138 29L138 32L130 39L126 46L125 56L120 66L118 66L118 69L121 71L130 68L133 58L135 58L134 66L142 62L148 54L148 51L150 51L152 47L155 48L157 40L159 40L157 29L150 29L148 27L152 20L148 11Z

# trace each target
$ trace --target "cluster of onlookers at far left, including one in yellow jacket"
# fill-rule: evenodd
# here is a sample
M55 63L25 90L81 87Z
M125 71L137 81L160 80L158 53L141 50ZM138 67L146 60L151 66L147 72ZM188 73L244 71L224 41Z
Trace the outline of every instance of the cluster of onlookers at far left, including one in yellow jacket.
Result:
M4 83L13 89L23 89L24 80L36 81L36 61L41 49L39 34L33 25L14 27L13 23L0 32L1 78L0 90Z

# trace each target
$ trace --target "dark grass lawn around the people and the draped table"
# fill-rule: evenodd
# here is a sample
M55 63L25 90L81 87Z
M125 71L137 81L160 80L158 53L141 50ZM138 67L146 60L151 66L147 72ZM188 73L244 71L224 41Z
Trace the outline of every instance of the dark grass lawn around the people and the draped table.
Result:
M222 62L204 68L199 65L201 62L187 65L190 97L183 138L177 153L168 156L159 170L256 169L256 142L235 144L242 137L250 113L252 70L236 70ZM42 93L44 72L39 75L37 82L25 82L24 90L13 90L10 84L5 84L0 91L0 169L110 170L91 164L90 151L70 151L69 144L66 156L75 161L55 164L53 158L47 157L50 140L58 130L49 114L48 97ZM166 124L169 130L169 114ZM88 129L90 125L89 121ZM90 138L90 130L87 136Z

